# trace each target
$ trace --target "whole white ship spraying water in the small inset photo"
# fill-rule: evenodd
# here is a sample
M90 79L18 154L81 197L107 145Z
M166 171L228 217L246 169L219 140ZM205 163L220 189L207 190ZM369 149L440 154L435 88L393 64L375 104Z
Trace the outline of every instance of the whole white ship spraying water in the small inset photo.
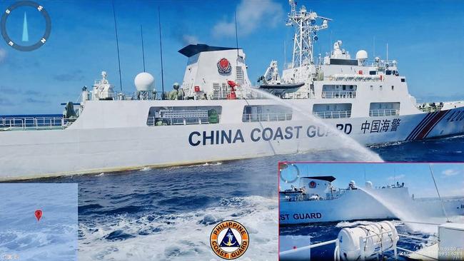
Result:
M306 224L348 220L385 220L464 215L464 197L414 198L402 184L375 188L367 181L361 189L354 181L335 188L333 176L299 177L279 191L279 223ZM442 205L443 203L443 205ZM404 215L404 216L402 216ZM408 220L406 220L408 221Z

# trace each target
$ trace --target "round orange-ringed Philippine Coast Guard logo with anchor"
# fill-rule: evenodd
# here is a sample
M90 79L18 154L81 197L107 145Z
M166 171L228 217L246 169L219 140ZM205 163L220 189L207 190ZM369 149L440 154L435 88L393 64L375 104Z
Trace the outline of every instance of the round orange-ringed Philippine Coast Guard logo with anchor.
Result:
M239 222L223 221L213 228L210 244L219 257L226 260L236 259L248 249L248 231Z

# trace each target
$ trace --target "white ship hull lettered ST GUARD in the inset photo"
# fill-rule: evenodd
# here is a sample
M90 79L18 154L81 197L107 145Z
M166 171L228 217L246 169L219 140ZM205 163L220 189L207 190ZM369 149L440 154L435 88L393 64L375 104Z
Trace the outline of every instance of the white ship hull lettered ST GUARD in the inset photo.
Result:
M382 205L363 190L347 190L334 200L281 201L279 223L281 225L307 224L318 222L339 222L351 220L385 220L397 218L445 217L440 201L413 200L407 188L379 189L380 198L388 198ZM447 215L464 215L464 198L444 200ZM388 210L393 207L395 213ZM398 215L403 215L398 217Z

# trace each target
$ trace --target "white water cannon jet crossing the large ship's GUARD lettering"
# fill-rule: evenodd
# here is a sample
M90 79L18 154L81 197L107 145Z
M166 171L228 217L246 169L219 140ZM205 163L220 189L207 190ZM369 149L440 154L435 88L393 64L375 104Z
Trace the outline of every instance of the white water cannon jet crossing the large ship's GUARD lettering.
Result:
M268 93L266 91L261 91L258 88L251 88L251 87L248 87L248 86L241 86L241 87L243 89L248 90L248 91L253 91L255 93L259 93L259 94L261 94L262 96L264 96L266 98L272 99L273 101L277 101L278 103L281 103L283 106L286 106L288 108L292 108L293 111L296 111L296 112L300 113L302 116L305 116L306 118L308 118L309 121L318 124L318 126L323 126L328 131L330 131L331 135L333 134L336 138L338 138L338 140L336 140L336 141L337 141L338 145L341 145L340 148L348 148L350 150L354 150L355 152L359 153L358 155L355 155L355 156L358 157L358 158L356 158L356 160L370 161L370 162L381 162L381 161L383 161L382 158L380 158L380 156L378 154L373 153L373 151L369 150L365 146L360 145L360 143L358 143L356 140L354 140L353 138L350 138L348 135L346 135L345 133L339 131L337 128L335 128L333 126L330 126L327 123L323 122L321 120L321 118L313 116L313 114L311 114L311 113L307 113L305 111L305 109L299 108L295 104L288 103L288 102L284 101L283 99L278 98L277 96L274 96L273 94Z

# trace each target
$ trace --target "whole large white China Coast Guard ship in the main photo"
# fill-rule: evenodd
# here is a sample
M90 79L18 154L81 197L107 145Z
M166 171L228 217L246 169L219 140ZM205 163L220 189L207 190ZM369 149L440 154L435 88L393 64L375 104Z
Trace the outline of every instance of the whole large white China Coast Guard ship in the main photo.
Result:
M464 103L416 104L396 61L352 58L342 41L314 57L330 19L290 5L293 61L282 76L272 61L253 87L241 48L203 44L179 51L188 63L169 93L148 73L118 93L102 73L63 117L0 118L0 180L340 149L336 129L364 145L464 132Z

